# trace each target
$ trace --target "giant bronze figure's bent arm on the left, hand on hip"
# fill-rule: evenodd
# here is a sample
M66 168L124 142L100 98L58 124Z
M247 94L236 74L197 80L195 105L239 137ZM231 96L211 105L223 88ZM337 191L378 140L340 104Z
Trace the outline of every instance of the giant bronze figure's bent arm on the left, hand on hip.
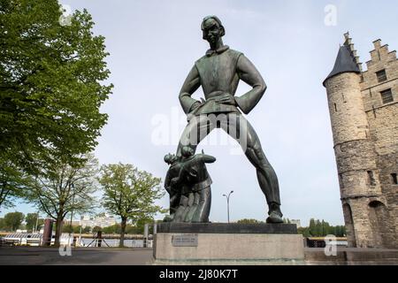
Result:
M196 66L192 68L191 72L189 72L187 79L184 81L184 85L180 90L180 103L182 109L189 114L193 111L197 106L201 103L191 96L195 93L196 89L201 86L201 79L199 77L199 72L197 71Z

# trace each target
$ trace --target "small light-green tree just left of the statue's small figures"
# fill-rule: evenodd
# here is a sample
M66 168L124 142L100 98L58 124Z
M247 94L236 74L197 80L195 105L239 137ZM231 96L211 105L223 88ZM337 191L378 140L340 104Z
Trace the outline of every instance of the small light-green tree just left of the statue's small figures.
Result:
M121 218L120 247L124 245L127 219L151 218L165 212L154 202L164 195L161 180L132 164L108 164L101 168L103 207Z

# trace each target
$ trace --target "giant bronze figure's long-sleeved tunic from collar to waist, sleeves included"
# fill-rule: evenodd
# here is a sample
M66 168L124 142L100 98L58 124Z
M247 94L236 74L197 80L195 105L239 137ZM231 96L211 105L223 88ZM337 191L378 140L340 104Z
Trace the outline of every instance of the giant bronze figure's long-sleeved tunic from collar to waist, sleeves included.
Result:
M239 80L247 82L253 89L241 97L234 97L237 106L218 103L218 96L235 96ZM202 86L206 98L203 103L191 97L199 86ZM218 50L208 50L195 62L181 89L180 103L187 114L193 115L241 111L248 114L264 95L265 88L261 74L249 59L241 52L223 46Z

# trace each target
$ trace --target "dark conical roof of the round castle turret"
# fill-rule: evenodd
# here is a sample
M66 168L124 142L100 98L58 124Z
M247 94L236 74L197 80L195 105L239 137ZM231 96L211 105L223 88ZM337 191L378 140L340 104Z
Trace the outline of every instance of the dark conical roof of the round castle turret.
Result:
M361 73L352 47L350 46L348 41L346 41L344 45L341 46L339 54L336 58L336 63L334 63L333 71L325 79L324 86L326 80L329 80L330 78L340 73Z

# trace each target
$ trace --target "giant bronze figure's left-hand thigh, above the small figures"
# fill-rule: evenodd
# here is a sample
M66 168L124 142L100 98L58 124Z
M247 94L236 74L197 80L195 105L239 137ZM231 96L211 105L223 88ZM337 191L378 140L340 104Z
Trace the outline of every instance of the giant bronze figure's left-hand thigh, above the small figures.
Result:
M181 149L189 146L196 152L197 145L215 128L206 115L196 116L189 120L181 134L177 156L181 156Z

